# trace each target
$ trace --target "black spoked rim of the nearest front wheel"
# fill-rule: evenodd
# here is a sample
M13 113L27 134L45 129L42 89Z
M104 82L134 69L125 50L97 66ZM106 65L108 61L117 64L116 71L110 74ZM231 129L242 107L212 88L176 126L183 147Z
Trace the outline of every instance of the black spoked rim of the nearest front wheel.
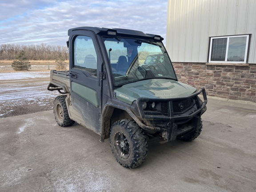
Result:
M130 142L123 132L117 132L115 136L115 148L122 159L128 159L130 156Z

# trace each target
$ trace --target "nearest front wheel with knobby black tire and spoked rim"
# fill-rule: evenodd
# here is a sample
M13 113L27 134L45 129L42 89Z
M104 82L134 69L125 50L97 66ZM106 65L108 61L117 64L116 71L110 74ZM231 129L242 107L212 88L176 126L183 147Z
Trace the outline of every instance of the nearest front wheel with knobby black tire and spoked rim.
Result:
M117 162L125 168L140 166L148 154L143 130L133 120L119 120L112 125L110 146Z

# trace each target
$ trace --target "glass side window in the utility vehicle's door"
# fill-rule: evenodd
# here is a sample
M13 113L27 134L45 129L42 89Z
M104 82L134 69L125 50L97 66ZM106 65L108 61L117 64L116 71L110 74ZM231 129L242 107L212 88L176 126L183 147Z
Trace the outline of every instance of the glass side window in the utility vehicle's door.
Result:
M91 37L76 36L73 58L73 68L79 68L92 76L97 76L97 54Z

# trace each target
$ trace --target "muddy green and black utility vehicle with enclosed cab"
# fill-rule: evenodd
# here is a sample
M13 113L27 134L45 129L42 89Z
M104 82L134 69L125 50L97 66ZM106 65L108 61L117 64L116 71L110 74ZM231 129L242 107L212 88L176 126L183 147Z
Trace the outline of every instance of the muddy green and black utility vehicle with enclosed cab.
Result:
M72 28L68 36L69 71L52 70L48 85L61 94L53 110L60 126L76 122L101 142L109 138L126 168L144 162L149 141L200 135L206 92L178 82L163 37L96 27Z

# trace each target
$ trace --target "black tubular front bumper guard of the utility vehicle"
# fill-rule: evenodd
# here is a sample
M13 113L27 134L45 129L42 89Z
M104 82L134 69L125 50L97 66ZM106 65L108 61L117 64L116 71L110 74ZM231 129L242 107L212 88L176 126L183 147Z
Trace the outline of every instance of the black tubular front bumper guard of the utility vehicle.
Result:
M203 96L203 101L198 97ZM185 109L184 112L175 112L173 104L176 101L182 104L182 101L193 100L193 106ZM143 102L168 102L168 115L148 115L142 108ZM147 99L140 98L136 101L140 113L140 120L136 120L137 124L148 131L162 132L164 140L175 140L176 136L192 131L196 128L200 121L201 115L207 110L207 96L204 88L190 96L183 98L175 98L171 100L163 99Z

